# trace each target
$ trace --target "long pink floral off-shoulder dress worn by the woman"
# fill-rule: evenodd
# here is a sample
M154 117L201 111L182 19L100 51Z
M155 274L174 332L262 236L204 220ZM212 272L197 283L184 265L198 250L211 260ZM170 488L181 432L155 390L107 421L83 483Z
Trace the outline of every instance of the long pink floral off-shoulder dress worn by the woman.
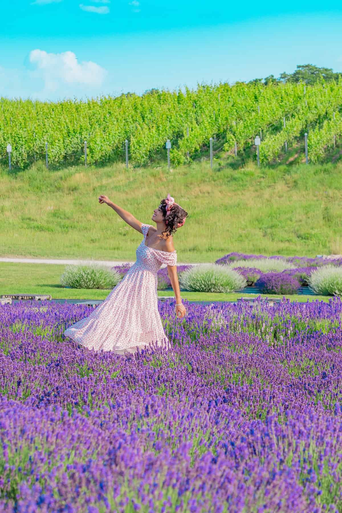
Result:
M176 251L161 251L145 244L152 225L142 224L144 239L136 249L136 262L103 303L64 331L88 349L136 352L150 344L167 347L157 308L157 271L162 264L176 265Z

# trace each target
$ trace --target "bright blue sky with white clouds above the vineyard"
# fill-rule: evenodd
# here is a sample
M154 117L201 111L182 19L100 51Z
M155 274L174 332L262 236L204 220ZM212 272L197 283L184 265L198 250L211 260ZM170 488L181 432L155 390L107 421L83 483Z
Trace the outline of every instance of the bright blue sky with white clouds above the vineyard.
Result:
M342 71L336 0L14 0L1 17L0 96L142 94L307 63Z

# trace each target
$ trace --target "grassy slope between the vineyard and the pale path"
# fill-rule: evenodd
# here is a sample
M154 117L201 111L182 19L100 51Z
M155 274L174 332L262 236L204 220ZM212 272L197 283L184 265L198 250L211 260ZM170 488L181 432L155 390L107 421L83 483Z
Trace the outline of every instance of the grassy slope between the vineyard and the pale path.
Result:
M214 262L230 251L308 255L340 251L342 164L233 168L231 157L168 172L163 165L126 170L43 163L0 175L1 256L135 260L141 235L99 194L153 224L170 192L189 213L174 235L179 262Z

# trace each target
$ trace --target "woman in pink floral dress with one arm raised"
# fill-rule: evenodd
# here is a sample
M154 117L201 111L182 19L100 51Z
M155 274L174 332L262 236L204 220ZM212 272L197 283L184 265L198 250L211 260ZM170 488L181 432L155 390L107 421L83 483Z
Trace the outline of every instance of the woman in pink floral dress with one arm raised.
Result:
M168 194L154 210L152 225L140 223L130 213L112 203L105 195L98 201L110 206L144 238L136 249L136 262L113 288L105 301L86 318L67 328L64 335L89 349L117 354L136 352L156 344L167 347L162 320L157 308L157 271L167 264L176 297L176 314L184 317L177 278L177 253L172 233L183 226L188 213Z

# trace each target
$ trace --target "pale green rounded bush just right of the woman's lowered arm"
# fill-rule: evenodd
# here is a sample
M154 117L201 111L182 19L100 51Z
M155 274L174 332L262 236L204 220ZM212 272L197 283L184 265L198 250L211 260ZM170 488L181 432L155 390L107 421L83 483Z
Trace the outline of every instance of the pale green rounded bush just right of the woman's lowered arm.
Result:
M198 292L232 292L246 287L247 282L233 269L215 264L201 264L182 272L179 284L186 290Z

